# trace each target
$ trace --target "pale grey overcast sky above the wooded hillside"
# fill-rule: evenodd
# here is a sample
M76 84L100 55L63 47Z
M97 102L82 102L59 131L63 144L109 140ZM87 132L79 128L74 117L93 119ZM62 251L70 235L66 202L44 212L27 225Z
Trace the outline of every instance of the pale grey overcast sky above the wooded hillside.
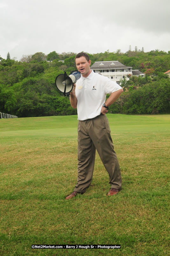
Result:
M170 51L170 0L0 0L0 56Z

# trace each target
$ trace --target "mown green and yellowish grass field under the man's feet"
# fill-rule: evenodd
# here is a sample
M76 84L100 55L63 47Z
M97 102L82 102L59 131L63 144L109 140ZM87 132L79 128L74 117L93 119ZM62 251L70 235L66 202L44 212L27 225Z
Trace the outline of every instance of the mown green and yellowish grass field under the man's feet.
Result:
M122 190L96 155L84 195L77 181L77 116L0 119L0 255L169 255L170 115L107 114ZM121 249L32 249L120 244Z

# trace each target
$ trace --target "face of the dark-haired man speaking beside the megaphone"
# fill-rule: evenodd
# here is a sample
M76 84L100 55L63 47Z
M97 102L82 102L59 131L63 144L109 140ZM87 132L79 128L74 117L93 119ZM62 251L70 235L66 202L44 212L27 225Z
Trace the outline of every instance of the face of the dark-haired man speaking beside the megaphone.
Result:
M80 58L75 59L75 64L77 67L77 70L81 73L83 77L88 77L88 75L91 73L90 70L90 64L91 60L87 61L84 56Z

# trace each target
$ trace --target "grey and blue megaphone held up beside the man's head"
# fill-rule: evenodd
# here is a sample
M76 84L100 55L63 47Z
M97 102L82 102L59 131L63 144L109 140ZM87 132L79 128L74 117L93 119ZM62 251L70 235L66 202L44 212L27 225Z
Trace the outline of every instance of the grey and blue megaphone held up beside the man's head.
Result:
M55 85L60 92L64 93L64 96L69 95L73 89L73 84L81 77L79 71L74 71L70 75L60 74L55 79Z

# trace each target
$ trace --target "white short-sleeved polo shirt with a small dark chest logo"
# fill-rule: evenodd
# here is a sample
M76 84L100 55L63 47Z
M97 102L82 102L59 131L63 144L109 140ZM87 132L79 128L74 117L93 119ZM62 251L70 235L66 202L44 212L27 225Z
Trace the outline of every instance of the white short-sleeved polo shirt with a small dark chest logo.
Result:
M122 89L108 77L93 72L76 82L75 95L77 97L78 120L87 120L100 115L106 94Z

